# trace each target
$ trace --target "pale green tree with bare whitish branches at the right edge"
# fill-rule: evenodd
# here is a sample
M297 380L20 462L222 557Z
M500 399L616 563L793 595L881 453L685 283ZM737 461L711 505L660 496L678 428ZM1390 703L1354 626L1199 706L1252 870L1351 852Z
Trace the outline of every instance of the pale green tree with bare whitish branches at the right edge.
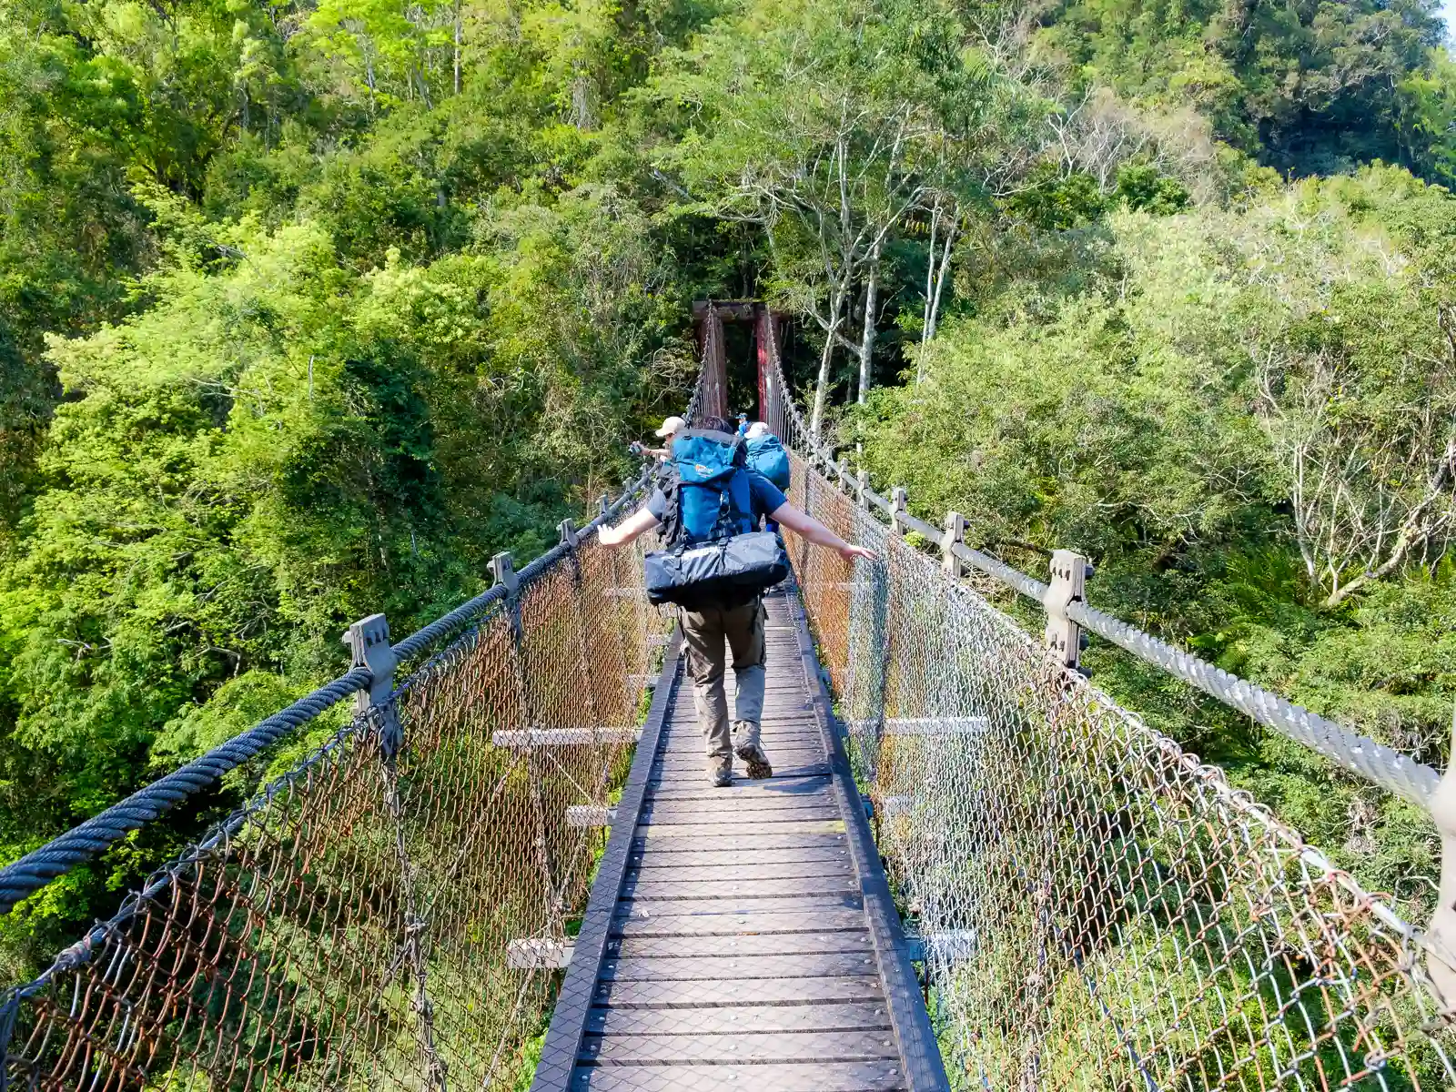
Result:
M1261 290L1246 319L1258 412L1326 609L1440 556L1456 531L1456 312L1441 277L1456 215L1411 182L1385 170L1306 186L1271 217L1284 232L1243 240ZM1414 207L1402 218L1424 220L1418 248L1390 232L1401 221L1344 205L1396 195Z

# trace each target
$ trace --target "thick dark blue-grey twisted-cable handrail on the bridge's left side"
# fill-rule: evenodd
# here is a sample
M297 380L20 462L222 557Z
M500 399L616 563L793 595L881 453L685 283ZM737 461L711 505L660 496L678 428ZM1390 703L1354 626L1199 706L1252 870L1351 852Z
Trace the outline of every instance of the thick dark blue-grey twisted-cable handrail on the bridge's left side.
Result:
M649 480L651 469L644 469L635 480L625 483L623 492L614 501L609 502L603 496L601 511L591 523L581 529L581 534L590 534L603 523L614 518L623 507L642 494ZM566 545L553 546L520 569L517 577L523 581L531 579L561 561L568 550L569 546ZM415 660L443 639L463 632L480 619L494 603L502 600L505 591L504 585L496 584L405 638L393 646L396 661ZM415 671L405 678L399 690L406 689L418 673ZM214 747L207 754L194 759L165 778L137 789L124 801L71 827L39 849L31 850L19 860L0 868L0 914L10 913L16 903L50 885L76 868L76 865L103 853L116 842L127 837L130 831L146 827L182 801L214 785L224 773L256 757L294 729L317 719L345 697L367 690L374 676L367 667L355 667L344 673L338 678L300 697L287 709L259 721L246 732Z

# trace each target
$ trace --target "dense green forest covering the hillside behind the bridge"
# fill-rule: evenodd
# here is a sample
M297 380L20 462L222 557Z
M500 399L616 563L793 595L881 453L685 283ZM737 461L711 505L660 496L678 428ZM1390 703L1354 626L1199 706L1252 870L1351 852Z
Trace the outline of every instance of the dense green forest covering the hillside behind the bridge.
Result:
M815 421L922 514L1443 761L1441 41L1430 0L6 4L3 853L539 552L681 405L703 296L796 314ZM1409 810L1093 664L1420 895ZM248 783L19 907L7 973Z

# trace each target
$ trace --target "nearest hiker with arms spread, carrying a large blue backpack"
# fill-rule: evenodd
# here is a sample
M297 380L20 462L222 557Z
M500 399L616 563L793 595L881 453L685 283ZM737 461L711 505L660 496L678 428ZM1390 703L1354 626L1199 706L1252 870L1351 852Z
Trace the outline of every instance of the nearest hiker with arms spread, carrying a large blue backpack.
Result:
M751 779L772 778L773 767L760 743L767 617L763 590L788 575L788 558L776 536L754 533L753 527L767 517L811 543L836 550L844 561L875 555L852 546L812 515L801 513L773 482L751 470L744 440L724 418L705 418L699 427L680 430L673 441L671 466L676 473L667 488L654 491L651 499L619 526L603 527L600 540L603 546L625 546L658 524L667 524L667 549L649 555L648 590L649 596L657 591L654 601L673 601L680 607L697 725L706 740L708 780L718 788L732 783L734 753L744 760ZM729 542L738 549L725 561ZM776 559L767 559L763 550L772 550ZM747 572L722 575L724 565L741 563L744 556L763 561L748 562ZM658 559L655 568L651 565L654 558ZM719 568L712 569L711 562ZM715 575L695 584L695 565L697 572ZM655 588L654 577L660 578L662 571L677 574L680 585L668 591ZM770 575L759 577L759 572ZM737 681L737 716L731 731L724 693L724 642L732 651Z

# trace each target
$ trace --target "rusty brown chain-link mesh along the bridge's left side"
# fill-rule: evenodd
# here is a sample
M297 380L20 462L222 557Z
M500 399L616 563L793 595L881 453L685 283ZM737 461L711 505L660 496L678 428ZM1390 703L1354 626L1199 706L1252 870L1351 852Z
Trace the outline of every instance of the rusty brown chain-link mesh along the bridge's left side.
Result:
M641 574L594 539L523 572L13 990L9 1086L511 1088L606 837L568 808L620 786L670 622Z

